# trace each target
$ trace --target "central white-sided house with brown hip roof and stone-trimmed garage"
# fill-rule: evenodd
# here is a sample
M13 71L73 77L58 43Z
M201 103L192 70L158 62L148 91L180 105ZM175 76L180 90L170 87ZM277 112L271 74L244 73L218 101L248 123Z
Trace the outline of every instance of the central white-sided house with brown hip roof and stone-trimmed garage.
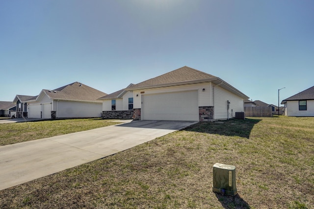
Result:
M221 78L187 66L131 85L123 92L133 94L134 120L228 119L234 117L235 112L243 112L244 100L248 99ZM103 109L112 111L112 104L107 101L103 104ZM116 111L123 108L116 106Z

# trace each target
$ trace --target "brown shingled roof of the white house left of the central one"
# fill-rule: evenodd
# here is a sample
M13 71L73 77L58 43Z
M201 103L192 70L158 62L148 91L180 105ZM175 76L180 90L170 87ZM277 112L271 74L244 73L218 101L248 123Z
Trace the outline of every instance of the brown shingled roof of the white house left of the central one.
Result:
M97 99L107 95L80 82L70 83L54 90L43 89L42 91L52 100L100 102Z

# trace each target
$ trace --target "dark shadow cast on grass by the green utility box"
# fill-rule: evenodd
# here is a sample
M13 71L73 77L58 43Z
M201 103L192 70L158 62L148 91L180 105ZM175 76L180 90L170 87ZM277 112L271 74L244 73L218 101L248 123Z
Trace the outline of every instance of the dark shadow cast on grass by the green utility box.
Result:
M215 193L217 199L225 209L249 209L250 206L238 194L235 196L227 196Z

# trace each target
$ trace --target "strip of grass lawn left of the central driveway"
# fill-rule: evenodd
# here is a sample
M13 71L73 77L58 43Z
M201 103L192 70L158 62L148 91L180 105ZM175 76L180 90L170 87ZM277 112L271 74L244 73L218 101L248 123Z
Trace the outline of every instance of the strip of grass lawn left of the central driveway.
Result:
M0 146L118 124L99 118L0 124Z

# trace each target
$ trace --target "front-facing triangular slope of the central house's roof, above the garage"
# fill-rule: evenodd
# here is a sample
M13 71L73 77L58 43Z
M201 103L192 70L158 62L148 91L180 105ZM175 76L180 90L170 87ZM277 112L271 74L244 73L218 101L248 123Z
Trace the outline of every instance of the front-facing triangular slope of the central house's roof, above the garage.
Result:
M137 83L133 85L132 88L154 87L154 86L161 86L161 85L167 85L167 84L173 85L173 84L180 84L182 82L193 82L197 80L212 79L212 78L217 78L217 77L214 77L210 74L184 66L182 68L163 74L161 76L157 76L155 78L151 78L143 82Z

